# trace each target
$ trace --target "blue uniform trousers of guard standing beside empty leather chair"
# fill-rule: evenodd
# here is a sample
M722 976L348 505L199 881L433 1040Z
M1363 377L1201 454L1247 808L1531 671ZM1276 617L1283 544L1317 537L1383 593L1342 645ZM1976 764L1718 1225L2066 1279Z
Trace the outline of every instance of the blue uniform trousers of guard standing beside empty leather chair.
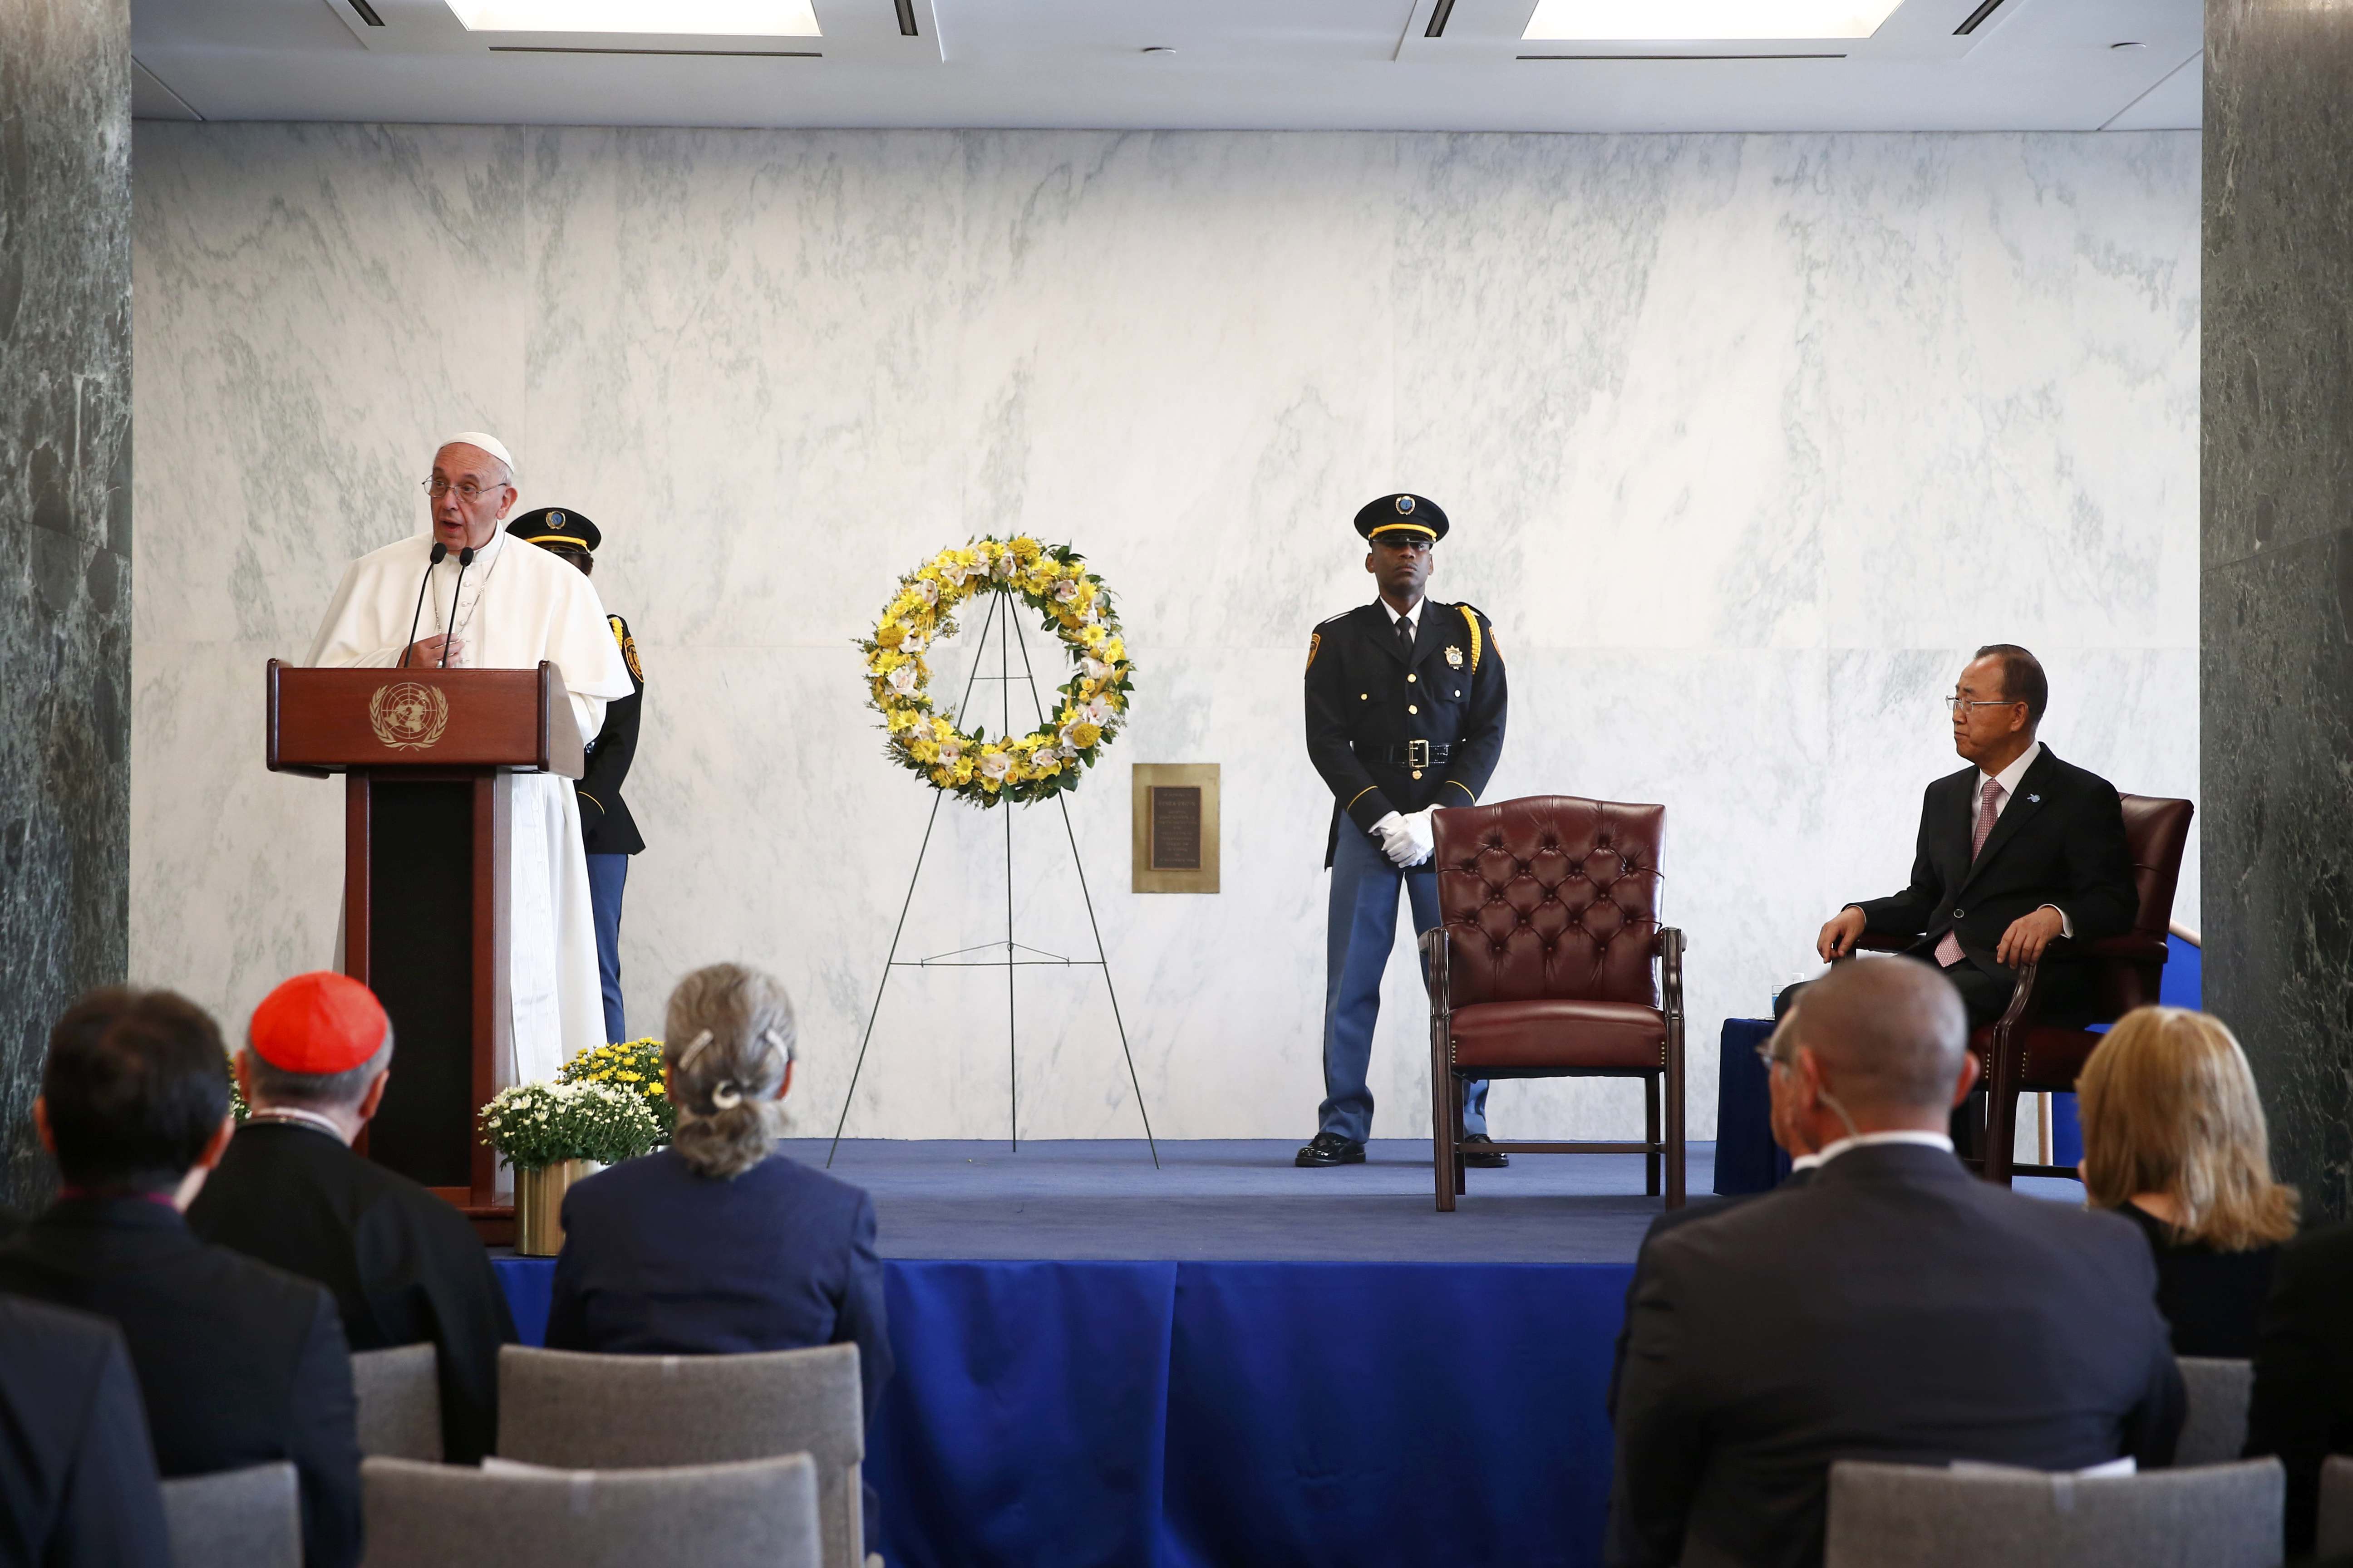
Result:
M1414 933L1438 924L1438 867L1400 872L1381 842L1341 820L1332 846L1332 912L1325 926L1325 1103L1318 1126L1351 1143L1372 1135L1372 1025L1381 1018L1381 971L1398 945L1398 884L1414 905ZM1464 1093L1464 1131L1487 1131L1487 1084Z

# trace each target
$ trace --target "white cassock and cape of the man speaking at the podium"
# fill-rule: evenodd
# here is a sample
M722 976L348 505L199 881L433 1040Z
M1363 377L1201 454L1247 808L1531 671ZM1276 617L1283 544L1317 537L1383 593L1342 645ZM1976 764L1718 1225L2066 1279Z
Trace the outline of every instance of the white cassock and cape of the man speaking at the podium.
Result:
M351 562L306 663L400 663L431 552L433 536L419 534ZM438 632L452 632L464 644L452 668L532 670L541 658L555 663L565 672L581 741L593 741L605 726L607 701L631 693L628 665L588 578L506 529L475 550L464 590L454 552L433 567L416 637ZM553 1079L574 1053L605 1044L605 1001L572 780L506 773L501 788L508 790L513 825L508 990L515 1056L501 1063L499 1081L518 1084Z

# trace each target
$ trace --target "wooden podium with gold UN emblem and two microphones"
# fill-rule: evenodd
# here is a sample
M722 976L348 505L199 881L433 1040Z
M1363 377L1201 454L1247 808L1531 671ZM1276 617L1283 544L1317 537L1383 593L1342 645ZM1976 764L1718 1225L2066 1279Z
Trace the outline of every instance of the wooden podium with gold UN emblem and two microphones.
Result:
M268 668L273 773L344 773L344 973L384 1001L398 1067L360 1150L506 1241L475 1112L508 1056L508 799L499 773L581 776L565 677ZM506 1232L506 1234L499 1234Z

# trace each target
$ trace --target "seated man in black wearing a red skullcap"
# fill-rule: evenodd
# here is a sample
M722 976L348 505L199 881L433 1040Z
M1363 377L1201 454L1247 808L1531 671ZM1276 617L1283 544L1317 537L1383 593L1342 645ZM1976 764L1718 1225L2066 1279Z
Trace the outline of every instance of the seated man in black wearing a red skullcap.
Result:
M393 1025L365 985L308 973L273 990L238 1053L252 1114L188 1225L334 1291L351 1349L431 1342L442 1458L478 1465L496 1448L499 1345L515 1321L466 1215L351 1152L391 1077Z

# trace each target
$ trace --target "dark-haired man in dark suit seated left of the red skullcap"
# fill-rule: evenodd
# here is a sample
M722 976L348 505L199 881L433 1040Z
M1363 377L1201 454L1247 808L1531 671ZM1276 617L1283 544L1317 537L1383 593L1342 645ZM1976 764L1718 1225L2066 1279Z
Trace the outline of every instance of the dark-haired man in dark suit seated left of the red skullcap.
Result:
M181 1220L235 1126L224 1058L212 1018L172 992L111 987L66 1009L33 1100L64 1187L0 1246L0 1291L115 1321L162 1476L292 1460L304 1561L348 1568L360 1443L334 1298Z

